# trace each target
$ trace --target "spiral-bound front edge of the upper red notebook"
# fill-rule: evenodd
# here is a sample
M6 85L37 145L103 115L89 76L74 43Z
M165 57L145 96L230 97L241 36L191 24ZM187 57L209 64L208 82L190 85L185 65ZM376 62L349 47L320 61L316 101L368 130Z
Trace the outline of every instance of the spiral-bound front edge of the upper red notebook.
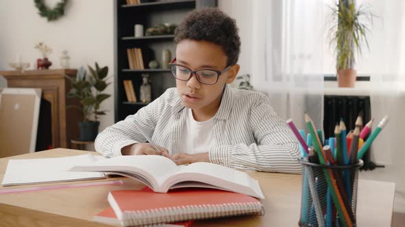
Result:
M122 225L151 225L240 215L264 215L263 205L260 202L233 202L215 205L174 206L146 211L126 211L122 215Z

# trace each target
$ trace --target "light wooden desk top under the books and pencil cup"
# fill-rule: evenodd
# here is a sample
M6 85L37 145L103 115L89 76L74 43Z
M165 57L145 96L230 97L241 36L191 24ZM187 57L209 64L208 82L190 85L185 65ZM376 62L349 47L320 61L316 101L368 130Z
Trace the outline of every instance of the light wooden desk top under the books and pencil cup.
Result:
M0 159L0 181L3 179L10 158L35 159L86 153L81 150L58 148L3 158ZM266 200L262 200L266 212L264 216L205 220L196 222L193 226L298 226L301 206L301 176L264 172L249 174L259 180L264 196L266 196ZM125 185L0 194L1 224L9 226L103 226L91 222L91 220L93 215L109 206L108 191L143 187L140 183L128 178L119 179L122 179ZM117 180L117 178L113 178L113 180ZM391 226L395 183L360 180L358 185L358 226ZM25 185L25 187L27 186ZM0 189L4 188L0 187Z

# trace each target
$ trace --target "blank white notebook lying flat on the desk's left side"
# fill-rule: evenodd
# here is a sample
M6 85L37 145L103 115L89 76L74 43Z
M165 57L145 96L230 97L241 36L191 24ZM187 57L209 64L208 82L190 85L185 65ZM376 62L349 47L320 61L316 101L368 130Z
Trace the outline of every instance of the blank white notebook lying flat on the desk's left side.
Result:
M47 159L10 159L1 185L25 185L104 178L100 172L68 172L73 165L95 162L93 155Z

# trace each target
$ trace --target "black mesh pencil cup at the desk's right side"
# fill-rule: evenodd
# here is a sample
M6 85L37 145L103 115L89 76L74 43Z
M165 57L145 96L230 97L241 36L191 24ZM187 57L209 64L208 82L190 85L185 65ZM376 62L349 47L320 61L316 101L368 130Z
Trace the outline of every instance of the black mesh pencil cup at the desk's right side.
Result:
M304 159L299 226L356 226L358 170L353 165L321 165Z

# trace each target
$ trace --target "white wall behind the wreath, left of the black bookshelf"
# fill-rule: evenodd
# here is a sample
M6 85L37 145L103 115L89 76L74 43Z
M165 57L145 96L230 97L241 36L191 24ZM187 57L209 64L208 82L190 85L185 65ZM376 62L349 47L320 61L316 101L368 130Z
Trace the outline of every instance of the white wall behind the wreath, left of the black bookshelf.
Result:
M47 0L53 7L58 0ZM69 51L70 67L93 65L108 66L109 75L114 73L113 1L70 0L65 7L65 16L58 21L47 22L38 15L32 0L0 1L0 70L11 70L8 62L21 55L23 62L33 64L40 52L34 49L38 42L45 42L54 50L49 55L51 69L60 68L62 50ZM113 78L111 78L113 79ZM0 79L0 87L5 86ZM106 92L113 94L113 85ZM103 116L100 130L113 124L114 98L102 103L101 109L108 109Z

